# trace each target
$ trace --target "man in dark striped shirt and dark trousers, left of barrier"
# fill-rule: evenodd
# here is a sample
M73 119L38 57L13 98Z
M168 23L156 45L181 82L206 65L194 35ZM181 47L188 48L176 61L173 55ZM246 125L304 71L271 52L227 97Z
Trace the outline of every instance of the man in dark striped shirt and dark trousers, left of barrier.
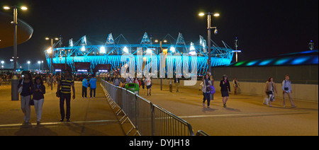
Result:
M60 115L61 122L67 118L67 122L69 121L69 117L71 115L71 87L73 91L73 99L75 99L75 88L74 88L74 80L72 76L70 76L71 72L69 70L65 70L65 76L61 77L61 79L57 82L57 97L60 98ZM61 89L60 89L61 88ZM67 114L65 115L65 102L67 104Z

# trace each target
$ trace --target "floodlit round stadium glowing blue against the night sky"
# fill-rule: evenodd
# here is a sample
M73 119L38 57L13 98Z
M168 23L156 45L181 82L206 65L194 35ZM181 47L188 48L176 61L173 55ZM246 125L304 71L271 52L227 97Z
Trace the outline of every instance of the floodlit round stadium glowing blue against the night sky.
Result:
M142 35L142 34L141 34ZM51 66L51 56L53 64L67 64L73 72L79 71L94 71L94 68L99 64L111 65L111 70L120 69L123 65L129 62L128 59L123 59L123 56L130 55L133 58L133 67L136 71L141 68L141 65L152 62L152 69L164 68L165 72L173 71L179 67L194 67L198 75L202 75L208 71L208 46L206 40L200 35L198 41L186 43L184 37L179 33L175 39L167 34L162 39L151 39L147 33L144 33L139 43L131 44L126 40L124 35L118 35L113 38L112 33L108 34L106 41L102 45L93 45L84 35L82 38L74 42L69 40L69 47L59 47L62 45L61 40L55 43L52 50L45 50L47 64ZM222 41L223 42L223 41ZM229 65L233 59L233 50L223 42L224 47L218 47L213 42L211 47L211 67ZM162 47L162 49L161 49ZM160 60L161 53L165 52L166 64L162 67ZM184 60L189 57L189 59ZM194 59L196 56L196 59ZM127 58L127 57L125 57ZM185 61L189 65L185 66ZM195 61L195 62L194 62ZM77 62L89 62L90 69L83 70L74 65ZM145 64L143 64L143 62ZM55 66L55 65L53 65ZM56 68L52 70L55 71Z

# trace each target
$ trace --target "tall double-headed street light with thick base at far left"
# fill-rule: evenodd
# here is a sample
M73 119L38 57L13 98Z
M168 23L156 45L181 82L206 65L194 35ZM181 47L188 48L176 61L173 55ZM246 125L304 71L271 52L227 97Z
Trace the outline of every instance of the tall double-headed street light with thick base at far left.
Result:
M13 42L13 77L11 79L11 100L19 100L18 95L18 76L16 76L16 59L17 59L17 25L18 25L18 8L21 8L21 10L26 11L28 8L26 6L4 6L4 9L9 10L10 8L13 8L13 26L14 26L14 42Z

